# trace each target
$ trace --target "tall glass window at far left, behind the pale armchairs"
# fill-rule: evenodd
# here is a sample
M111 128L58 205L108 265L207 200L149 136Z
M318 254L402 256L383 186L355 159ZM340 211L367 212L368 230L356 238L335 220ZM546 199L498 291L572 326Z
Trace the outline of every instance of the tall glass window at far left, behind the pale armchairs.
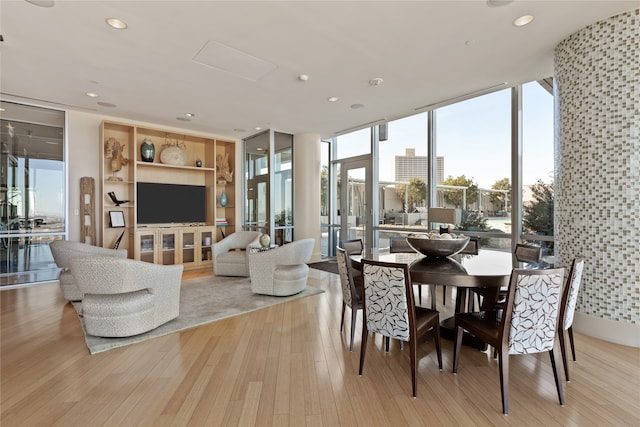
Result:
M0 102L0 282L56 278L48 243L65 237L65 113Z

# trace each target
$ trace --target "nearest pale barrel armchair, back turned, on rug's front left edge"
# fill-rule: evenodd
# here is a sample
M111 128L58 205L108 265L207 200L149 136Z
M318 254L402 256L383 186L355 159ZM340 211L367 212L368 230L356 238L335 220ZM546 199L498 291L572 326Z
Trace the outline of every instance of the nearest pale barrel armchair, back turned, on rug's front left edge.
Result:
M106 257L71 260L71 271L84 293L87 334L128 337L178 317L182 268Z

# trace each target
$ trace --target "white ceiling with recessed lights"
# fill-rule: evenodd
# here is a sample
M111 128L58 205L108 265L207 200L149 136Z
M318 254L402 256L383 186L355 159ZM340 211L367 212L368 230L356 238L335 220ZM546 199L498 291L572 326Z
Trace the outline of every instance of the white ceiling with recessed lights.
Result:
M237 139L258 127L335 136L551 76L561 40L640 4L31 3L0 2L5 100ZM514 26L524 14L534 21Z

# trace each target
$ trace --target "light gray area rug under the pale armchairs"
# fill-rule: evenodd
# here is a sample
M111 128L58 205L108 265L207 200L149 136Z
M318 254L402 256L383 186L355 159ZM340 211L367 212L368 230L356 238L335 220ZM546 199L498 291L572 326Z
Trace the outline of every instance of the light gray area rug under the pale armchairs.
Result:
M180 316L144 334L126 338L94 337L87 335L82 316L79 319L89 352L96 354L321 292L324 291L307 286L296 295L272 297L251 292L248 278L207 276L183 280ZM73 303L73 306L77 312L81 304Z

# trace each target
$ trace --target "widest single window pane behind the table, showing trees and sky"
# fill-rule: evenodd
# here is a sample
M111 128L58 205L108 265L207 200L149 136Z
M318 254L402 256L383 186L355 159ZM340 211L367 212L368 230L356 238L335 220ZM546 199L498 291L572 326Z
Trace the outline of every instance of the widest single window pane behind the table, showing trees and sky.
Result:
M506 237L483 237L481 246L509 250L511 90L439 108L435 117L435 144L443 170L437 207L462 210L458 229Z

